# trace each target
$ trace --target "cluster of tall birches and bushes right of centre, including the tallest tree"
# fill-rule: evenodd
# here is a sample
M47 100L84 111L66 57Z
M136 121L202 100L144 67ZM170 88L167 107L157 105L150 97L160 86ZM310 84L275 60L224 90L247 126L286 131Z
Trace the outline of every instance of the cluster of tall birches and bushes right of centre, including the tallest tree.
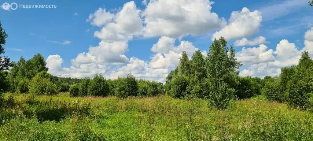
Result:
M228 48L224 38L215 39L207 56L197 50L189 60L187 53L182 52L179 65L167 76L167 93L177 98L206 98L218 109L227 108L235 97L260 95L262 80L239 77L240 66L233 46Z

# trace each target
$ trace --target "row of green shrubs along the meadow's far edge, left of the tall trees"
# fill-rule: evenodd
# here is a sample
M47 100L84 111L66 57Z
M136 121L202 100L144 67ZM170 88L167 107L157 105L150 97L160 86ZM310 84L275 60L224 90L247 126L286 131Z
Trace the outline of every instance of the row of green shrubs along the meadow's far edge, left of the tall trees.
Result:
M133 75L128 74L125 78L105 80L96 74L93 79L84 78L79 84L69 88L70 96L108 96L115 95L119 98L130 96L156 96L164 93L162 83L154 81L137 80Z

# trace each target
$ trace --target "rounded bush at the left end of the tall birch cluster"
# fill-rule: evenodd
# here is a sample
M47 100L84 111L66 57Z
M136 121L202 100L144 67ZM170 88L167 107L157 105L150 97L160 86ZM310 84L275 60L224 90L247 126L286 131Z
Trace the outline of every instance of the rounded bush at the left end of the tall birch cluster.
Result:
M188 78L186 76L175 76L170 82L170 96L175 98L185 97L188 85Z

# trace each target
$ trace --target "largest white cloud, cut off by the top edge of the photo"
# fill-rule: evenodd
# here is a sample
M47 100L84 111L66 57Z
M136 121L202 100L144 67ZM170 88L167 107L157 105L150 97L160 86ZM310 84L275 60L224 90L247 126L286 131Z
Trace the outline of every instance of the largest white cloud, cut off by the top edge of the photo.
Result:
M201 35L226 22L211 12L208 0L151 0L143 11L145 37Z

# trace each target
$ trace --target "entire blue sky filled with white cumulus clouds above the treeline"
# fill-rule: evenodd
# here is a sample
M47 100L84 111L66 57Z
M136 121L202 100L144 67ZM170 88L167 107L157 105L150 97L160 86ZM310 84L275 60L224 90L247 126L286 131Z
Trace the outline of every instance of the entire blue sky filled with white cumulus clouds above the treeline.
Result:
M164 82L183 50L204 55L214 38L233 44L241 76L277 76L313 57L313 7L308 0L6 1L56 8L0 8L8 33L5 56L40 52L54 76L132 73Z

